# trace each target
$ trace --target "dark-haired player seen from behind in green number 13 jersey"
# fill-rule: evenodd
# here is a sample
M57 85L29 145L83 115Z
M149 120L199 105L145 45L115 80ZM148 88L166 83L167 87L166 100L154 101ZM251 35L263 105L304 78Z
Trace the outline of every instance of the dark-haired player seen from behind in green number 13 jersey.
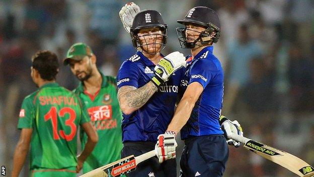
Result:
M30 147L30 176L76 176L93 151L98 135L81 107L80 98L55 82L56 54L42 50L32 57L31 77L39 88L25 97L18 128L12 176L19 176ZM87 134L82 154L76 158L78 126Z

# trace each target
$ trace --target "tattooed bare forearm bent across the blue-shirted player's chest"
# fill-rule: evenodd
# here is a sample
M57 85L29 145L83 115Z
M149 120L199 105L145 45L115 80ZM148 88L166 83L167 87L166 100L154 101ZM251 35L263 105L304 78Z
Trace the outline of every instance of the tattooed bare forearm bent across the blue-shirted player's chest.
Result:
M136 89L133 86L123 86L118 90L120 107L125 114L130 114L143 106L148 99L158 90L150 81Z

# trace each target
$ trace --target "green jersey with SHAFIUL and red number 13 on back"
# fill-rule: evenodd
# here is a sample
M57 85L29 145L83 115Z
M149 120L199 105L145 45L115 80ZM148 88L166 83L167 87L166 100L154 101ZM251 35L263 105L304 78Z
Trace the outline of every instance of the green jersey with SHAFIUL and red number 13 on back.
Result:
M19 129L33 129L30 168L74 167L76 132L89 122L80 99L57 83L48 83L26 96L22 103Z

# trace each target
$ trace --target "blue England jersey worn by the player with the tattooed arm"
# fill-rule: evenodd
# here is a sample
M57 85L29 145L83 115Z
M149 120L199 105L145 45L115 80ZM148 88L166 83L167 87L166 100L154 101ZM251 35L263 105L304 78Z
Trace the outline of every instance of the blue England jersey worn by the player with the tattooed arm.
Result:
M155 65L140 51L124 61L117 76L117 86L140 88L154 76ZM122 114L122 141L156 142L164 134L174 115L178 93L181 90L185 68L180 68L159 87L141 108L131 114Z

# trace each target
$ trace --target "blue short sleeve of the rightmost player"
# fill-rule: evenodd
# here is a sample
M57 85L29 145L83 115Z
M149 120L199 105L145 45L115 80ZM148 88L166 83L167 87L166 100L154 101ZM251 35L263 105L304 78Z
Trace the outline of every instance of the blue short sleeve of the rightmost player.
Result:
M203 86L203 88L208 85L213 74L217 71L216 66L208 60L196 61L196 63L192 64L191 67L189 84L192 82L198 82Z

